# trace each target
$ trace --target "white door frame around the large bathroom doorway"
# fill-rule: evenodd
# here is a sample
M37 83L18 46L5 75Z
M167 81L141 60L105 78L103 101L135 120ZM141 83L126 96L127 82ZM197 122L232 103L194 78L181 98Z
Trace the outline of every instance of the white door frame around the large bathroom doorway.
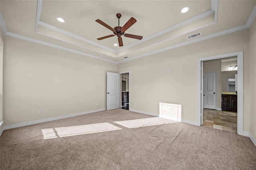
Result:
M203 61L208 61L208 60L214 60L214 59L222 59L222 58L227 58L227 57L237 57L237 133L238 135L243 135L243 110L244 110L244 92L243 92L243 51L238 51L234 53L226 53L226 54L221 54L221 55L214 55L210 57L203 57L198 59L198 68L197 68L197 82L198 82L198 104L197 104L197 125L201 126L201 117L203 114L203 92L202 92L202 80L203 80Z

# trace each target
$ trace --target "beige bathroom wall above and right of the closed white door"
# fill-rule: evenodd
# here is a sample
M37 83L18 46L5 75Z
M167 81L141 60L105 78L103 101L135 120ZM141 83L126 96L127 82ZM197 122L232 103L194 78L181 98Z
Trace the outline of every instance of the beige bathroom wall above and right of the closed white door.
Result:
M222 76L221 76L221 60L204 61L204 73L217 72L217 108L221 109L221 92L222 92Z

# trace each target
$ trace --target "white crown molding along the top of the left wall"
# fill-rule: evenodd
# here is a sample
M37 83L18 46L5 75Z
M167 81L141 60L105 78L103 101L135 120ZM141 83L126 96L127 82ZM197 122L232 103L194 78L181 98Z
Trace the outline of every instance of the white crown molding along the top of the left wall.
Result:
M64 51L69 51L71 53L76 53L76 54L84 55L84 56L87 56L87 57L92 57L94 59L99 59L99 60L108 61L110 63L116 63L117 64L116 61L100 58L100 57L97 57L97 56L94 56L94 55L83 53L81 51L69 49L69 48L66 48L66 47L62 47L60 45L55 45L55 44L52 44L52 43L48 43L48 42L41 41L41 40L38 40L38 39L26 37L26 36L19 35L19 34L16 34L16 33L7 32L5 35L11 36L11 37L15 37L15 38L19 38L19 39L23 39L23 40L30 41L30 42L33 42L33 43L38 43L38 44L46 45L46 46L53 47L53 48L56 48L56 49L61 49L61 50L64 50Z

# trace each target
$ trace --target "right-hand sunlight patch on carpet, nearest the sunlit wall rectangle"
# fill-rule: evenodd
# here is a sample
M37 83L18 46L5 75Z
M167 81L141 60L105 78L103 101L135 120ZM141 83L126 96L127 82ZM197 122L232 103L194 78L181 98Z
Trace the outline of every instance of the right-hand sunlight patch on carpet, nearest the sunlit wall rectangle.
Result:
M118 125L127 127L127 128L137 128L137 127L145 127L145 126L154 126L154 125L162 125L167 123L175 123L176 121L164 119L161 117L151 117L145 119L135 119L135 120L126 120L126 121L114 121Z

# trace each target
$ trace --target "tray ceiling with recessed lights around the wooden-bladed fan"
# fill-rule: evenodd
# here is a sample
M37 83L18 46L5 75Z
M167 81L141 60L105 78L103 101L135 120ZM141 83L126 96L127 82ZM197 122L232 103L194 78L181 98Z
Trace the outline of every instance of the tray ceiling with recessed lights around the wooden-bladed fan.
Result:
M189 6L182 14L180 10ZM84 56L121 63L250 27L256 0L0 0L1 27L6 35ZM97 40L131 17L137 20L122 36ZM60 23L56 17L66 20ZM198 37L187 36L202 33ZM102 57L100 57L102 55ZM124 59L123 57L128 57Z

